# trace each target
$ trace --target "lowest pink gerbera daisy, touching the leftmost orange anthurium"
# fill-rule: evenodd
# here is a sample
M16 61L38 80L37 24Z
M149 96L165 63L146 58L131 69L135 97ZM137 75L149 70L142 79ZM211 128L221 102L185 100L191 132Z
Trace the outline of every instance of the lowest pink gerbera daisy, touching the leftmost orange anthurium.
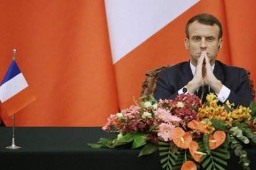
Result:
M163 138L165 142L168 140L173 140L173 129L175 126L170 123L161 123L160 124L160 129L158 130L158 136Z

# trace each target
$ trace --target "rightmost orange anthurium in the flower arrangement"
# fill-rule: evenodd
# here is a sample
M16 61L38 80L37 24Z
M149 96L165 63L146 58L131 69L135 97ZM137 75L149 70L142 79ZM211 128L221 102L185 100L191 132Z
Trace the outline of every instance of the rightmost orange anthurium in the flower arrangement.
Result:
M210 150L220 147L226 139L226 133L223 131L215 131L213 136L209 137Z

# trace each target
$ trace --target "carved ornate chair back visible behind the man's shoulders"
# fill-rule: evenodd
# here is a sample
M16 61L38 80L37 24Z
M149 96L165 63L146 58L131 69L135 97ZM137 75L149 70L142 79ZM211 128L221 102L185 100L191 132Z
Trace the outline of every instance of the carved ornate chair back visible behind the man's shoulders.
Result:
M161 66L161 67L155 68L153 70L148 70L147 71L147 73L145 74L146 78L142 83L141 96L142 95L150 95L150 94L153 95L154 94L155 89L156 89L156 82L157 82L157 79L158 79L158 73L161 70L163 70L165 68L168 68L168 67L171 67L171 65ZM246 70L246 73L247 73L248 78L249 78L249 83L250 83L252 94L255 97L254 82L252 81L252 79L250 79L250 71Z

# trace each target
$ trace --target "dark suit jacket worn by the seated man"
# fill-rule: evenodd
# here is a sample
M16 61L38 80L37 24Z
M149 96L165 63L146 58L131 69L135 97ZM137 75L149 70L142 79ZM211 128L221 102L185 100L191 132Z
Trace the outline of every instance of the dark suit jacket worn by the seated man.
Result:
M213 74L231 90L227 99L229 102L247 107L254 100L248 75L243 68L231 67L216 60ZM175 99L179 89L186 86L192 78L193 74L189 62L178 63L166 68L158 74L154 97L157 100Z

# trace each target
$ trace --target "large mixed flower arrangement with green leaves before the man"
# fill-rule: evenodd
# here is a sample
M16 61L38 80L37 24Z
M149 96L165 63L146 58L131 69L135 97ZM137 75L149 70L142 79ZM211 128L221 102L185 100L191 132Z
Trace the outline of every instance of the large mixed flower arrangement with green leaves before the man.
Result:
M142 102L108 118L106 132L116 139L101 138L91 147L142 148L139 156L159 150L163 169L224 169L229 149L239 156L244 169L250 168L243 145L256 144L255 102L250 107L227 101L218 105L215 94L201 103L194 94L180 94L174 100L141 97Z

